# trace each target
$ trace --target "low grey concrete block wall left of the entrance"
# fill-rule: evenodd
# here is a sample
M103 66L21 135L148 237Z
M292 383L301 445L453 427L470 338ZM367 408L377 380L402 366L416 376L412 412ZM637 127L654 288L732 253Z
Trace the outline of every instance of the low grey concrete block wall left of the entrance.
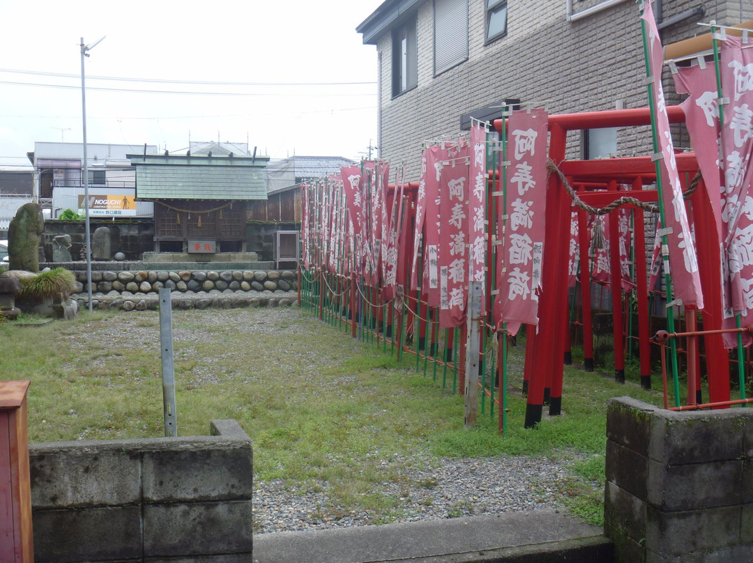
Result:
M251 441L212 434L32 444L35 561L250 561Z

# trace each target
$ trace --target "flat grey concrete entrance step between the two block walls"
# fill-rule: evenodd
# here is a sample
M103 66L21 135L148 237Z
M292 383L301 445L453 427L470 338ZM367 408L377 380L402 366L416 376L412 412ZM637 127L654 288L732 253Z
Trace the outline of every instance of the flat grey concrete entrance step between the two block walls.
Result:
M612 552L601 528L559 510L254 537L254 563L597 563L612 561Z

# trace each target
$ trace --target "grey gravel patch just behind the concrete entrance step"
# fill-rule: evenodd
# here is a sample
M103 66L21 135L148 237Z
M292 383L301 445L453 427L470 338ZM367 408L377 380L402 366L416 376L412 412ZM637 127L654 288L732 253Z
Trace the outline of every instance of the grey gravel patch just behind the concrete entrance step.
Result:
M381 483L380 493L398 499L392 522L413 522L560 508L557 482L565 476L562 467L545 458L446 458L438 467ZM368 511L343 513L326 490L288 487L282 479L257 480L252 504L256 534L381 523Z

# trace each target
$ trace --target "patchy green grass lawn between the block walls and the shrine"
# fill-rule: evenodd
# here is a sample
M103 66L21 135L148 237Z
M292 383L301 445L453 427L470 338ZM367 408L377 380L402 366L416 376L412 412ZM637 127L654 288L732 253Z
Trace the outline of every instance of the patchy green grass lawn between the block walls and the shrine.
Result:
M567 464L563 501L599 524L609 398L661 403L636 383L566 367L562 416L524 430L525 398L513 393L505 436L488 410L465 431L462 397L416 373L412 355L400 364L389 348L385 355L300 309L181 310L173 327L178 434L208 434L210 419L235 418L254 442L259 479L326 485L343 506L382 513L383 522L392 507L375 491L386 479L380 459L541 455ZM158 312L0 323L0 377L32 381L32 442L158 437L159 342ZM511 348L518 388L523 351ZM400 479L400 469L390 464L387 478Z

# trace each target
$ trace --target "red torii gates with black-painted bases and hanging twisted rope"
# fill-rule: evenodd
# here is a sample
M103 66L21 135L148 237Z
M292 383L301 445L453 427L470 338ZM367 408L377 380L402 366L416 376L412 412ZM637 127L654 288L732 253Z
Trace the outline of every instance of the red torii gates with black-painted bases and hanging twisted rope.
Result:
M671 123L684 123L684 113L679 106L667 108ZM574 186L589 184L603 184L607 190L586 192L579 191L578 195L584 202L593 206L603 206L617 199L617 196L632 196L640 201L657 201L657 191L643 191L643 184L654 184L656 172L651 157L614 158L605 160L577 160L567 161L566 137L567 132L579 129L600 129L605 127L632 127L651 125L651 114L648 108L629 110L594 111L582 114L559 114L549 116L549 157L566 177L571 178ZM503 120L495 120L495 129L503 130ZM694 154L678 154L678 169L680 172L695 173L698 169ZM618 184L631 184L633 190L617 193ZM721 295L720 257L718 254L718 237L715 229L715 218L712 215L709 198L703 181L691 196L693 207L693 221L695 225L698 262L703 287L703 293L708 296ZM558 175L550 175L547 189L546 235L544 244L544 272L542 291L539 298L538 333L535 330L527 332L525 379L528 385L528 400L526 406L526 428L541 421L544 398L549 400L549 414L559 415L562 412L562 367L566 350L566 339L569 338L567 326L568 314L568 262L569 262L569 227L572 213L572 200ZM581 214L584 217L584 212ZM642 214L636 221L636 248L645 248L645 233L642 229ZM580 221L578 230L581 242L581 260L587 263L585 251L587 245L587 229L584 219ZM616 221L612 222L616 227ZM614 228L614 227L613 227ZM616 239L616 236L615 236ZM614 245L616 246L616 245ZM641 253L643 254L643 253ZM615 262L612 253L612 271L619 271L619 257ZM615 267L617 266L617 267ZM584 282L581 283L587 300L590 290L588 267L581 267ZM647 384L650 377L650 354L648 352L648 298L645 283L645 260L636 260L636 278L639 296L639 342L641 345L641 376L642 383ZM613 280L617 275L613 274ZM614 282L613 282L614 283ZM619 283L614 283L619 288ZM614 358L615 376L618 381L624 381L624 353L621 334L622 323L620 291L612 291L613 313L618 315L614 324ZM588 308L587 308L588 309ZM589 309L590 314L590 309ZM689 315L694 316L694 315ZM703 312L704 327L706 329L721 328L721 300L709 298L706 311ZM584 318L584 326L590 328L590 321ZM532 327L531 327L532 328ZM585 331L584 331L585 332ZM593 365L593 348L590 339L584 333L584 353L587 363ZM712 402L730 399L729 357L722 344L721 335L706 336L706 362L709 372L709 400ZM540 350L547 353L536 353ZM695 365L696 358L689 358L688 364ZM696 386L697 375L692 371L689 379L693 379L692 388ZM691 388L689 381L689 389ZM691 397L695 400L695 397Z

